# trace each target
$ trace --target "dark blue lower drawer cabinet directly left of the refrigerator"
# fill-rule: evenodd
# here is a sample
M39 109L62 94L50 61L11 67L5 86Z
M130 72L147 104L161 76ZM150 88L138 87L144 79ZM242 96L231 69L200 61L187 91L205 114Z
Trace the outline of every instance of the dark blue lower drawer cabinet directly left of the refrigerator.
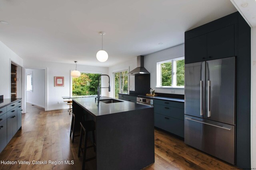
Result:
M154 126L184 137L184 103L154 100Z

